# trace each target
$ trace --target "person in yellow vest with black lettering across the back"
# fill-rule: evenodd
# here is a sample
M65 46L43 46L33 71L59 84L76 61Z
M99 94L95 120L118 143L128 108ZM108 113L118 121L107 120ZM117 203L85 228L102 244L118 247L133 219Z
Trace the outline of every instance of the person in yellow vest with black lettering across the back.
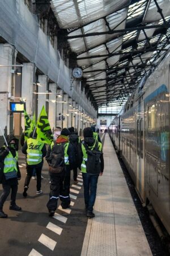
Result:
M33 170L36 169L37 176L37 195L42 193L41 190L41 170L43 158L46 155L46 146L43 142L37 141L37 133L30 134L30 138L24 143L22 148L23 154L27 155L27 176L25 177L23 196L27 197L28 185L31 180Z

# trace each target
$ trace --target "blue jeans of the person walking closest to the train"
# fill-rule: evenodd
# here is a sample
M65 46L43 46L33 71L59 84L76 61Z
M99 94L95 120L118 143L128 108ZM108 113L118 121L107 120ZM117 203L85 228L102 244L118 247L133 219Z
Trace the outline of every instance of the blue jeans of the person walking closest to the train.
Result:
M89 212L92 212L94 209L95 199L96 199L96 190L97 190L97 181L99 175L85 174L83 175L83 186L84 186L84 202L86 209Z

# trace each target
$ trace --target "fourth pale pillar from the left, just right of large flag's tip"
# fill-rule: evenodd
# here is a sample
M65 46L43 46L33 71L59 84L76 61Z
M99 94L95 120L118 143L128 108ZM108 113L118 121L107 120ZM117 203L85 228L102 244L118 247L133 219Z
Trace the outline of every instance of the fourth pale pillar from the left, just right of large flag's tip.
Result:
M48 109L48 119L52 131L56 127L56 93L57 93L57 84L49 84L49 90L52 91L52 94L49 94L49 109Z

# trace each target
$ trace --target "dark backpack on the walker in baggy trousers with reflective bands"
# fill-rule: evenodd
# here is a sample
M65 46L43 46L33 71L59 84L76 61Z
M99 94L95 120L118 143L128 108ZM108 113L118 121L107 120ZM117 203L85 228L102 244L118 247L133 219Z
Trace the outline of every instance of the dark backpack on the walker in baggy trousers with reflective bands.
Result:
M51 172L62 172L65 166L65 143L55 143L48 159L49 170Z

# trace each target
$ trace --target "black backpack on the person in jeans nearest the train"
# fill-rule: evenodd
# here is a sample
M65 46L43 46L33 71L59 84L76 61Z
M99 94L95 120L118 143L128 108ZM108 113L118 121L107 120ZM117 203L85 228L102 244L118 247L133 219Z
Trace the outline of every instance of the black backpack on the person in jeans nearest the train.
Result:
M82 141L82 144L87 152L86 172L88 174L100 174L100 156L103 153L98 148L99 143L96 141L95 147L92 149L87 146L86 142Z

